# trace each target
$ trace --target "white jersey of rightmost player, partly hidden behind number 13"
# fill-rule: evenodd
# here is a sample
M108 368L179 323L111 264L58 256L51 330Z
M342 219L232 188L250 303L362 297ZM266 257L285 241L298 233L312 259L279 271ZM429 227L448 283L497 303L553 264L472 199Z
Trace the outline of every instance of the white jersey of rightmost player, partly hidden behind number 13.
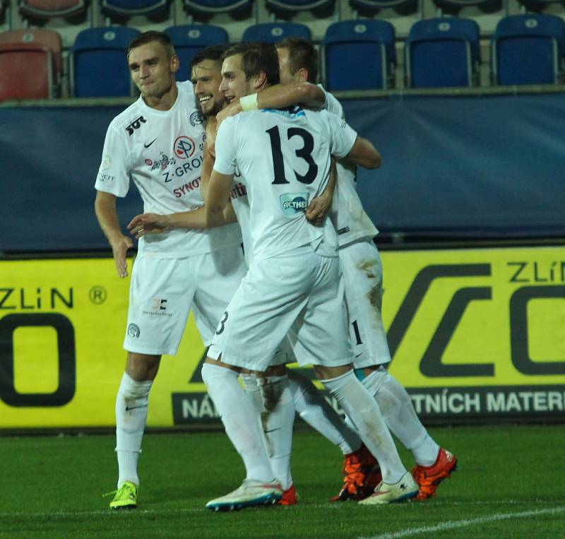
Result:
M340 102L320 88L326 94L324 108L344 119L343 107ZM337 162L338 183L335 186L330 217L338 229L340 247L345 247L358 239L372 239L378 233L369 215L365 213L356 190L357 170L355 165L346 161Z

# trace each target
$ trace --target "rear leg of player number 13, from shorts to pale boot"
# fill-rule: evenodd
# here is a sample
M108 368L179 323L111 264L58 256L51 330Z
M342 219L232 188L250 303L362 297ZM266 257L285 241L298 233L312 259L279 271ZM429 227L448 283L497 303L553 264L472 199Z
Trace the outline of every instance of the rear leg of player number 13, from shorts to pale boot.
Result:
M400 461L379 406L351 368L352 348L343 338L347 334L343 280L336 259L320 257L319 279L311 291L304 318L295 328L295 349L304 349L297 351L296 356L313 357L316 375L349 415L371 454L379 460L383 483L367 500L388 503L417 494L417 485Z

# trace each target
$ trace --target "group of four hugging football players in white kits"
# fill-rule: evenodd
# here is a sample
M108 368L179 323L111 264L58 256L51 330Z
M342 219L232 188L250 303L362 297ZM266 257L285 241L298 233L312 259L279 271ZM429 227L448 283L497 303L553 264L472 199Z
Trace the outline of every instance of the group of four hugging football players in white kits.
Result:
M203 381L246 470L208 509L297 503L296 413L343 451L334 501L434 496L457 459L386 370L378 231L355 190L355 167L376 169L381 155L316 85L314 46L290 38L208 47L192 60L191 81L177 83L189 66L179 66L167 34L150 31L131 42L127 61L141 95L110 123L95 184L122 278L133 242L116 201L130 179L144 205L127 225L139 242L109 507L138 504L148 396L191 309L208 347ZM313 367L346 420L292 362ZM412 470L391 434L411 451Z

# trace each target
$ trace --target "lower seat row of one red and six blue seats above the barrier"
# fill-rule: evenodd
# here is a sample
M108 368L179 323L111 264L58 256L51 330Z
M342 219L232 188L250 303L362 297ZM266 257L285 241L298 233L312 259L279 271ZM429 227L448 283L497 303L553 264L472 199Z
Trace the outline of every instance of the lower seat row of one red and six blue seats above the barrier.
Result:
M178 79L189 78L196 52L227 43L215 25L183 25L169 33L181 61ZM124 56L138 35L134 28L88 28L69 49L73 97L132 95ZM247 28L243 41L278 42L299 36L311 40L301 23L263 23ZM410 88L470 86L477 81L480 32L465 18L420 20L405 40L405 76ZM396 66L393 25L385 20L349 20L328 27L321 43L321 73L328 90L391 88ZM565 58L565 23L557 16L523 15L500 20L492 38L492 74L500 85L559 82ZM58 95L62 73L61 37L51 30L0 32L0 100Z

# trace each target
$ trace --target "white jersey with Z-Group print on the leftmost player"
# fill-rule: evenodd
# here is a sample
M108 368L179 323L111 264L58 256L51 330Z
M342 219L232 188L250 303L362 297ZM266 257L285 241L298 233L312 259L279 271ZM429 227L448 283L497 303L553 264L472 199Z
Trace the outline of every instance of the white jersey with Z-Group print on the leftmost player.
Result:
M189 81L177 83L179 95L166 111L143 98L109 124L95 188L126 196L130 178L143 199L143 211L174 213L203 206L200 177L204 126ZM212 230L170 230L142 237L138 253L157 258L203 254L241 241L237 224Z

